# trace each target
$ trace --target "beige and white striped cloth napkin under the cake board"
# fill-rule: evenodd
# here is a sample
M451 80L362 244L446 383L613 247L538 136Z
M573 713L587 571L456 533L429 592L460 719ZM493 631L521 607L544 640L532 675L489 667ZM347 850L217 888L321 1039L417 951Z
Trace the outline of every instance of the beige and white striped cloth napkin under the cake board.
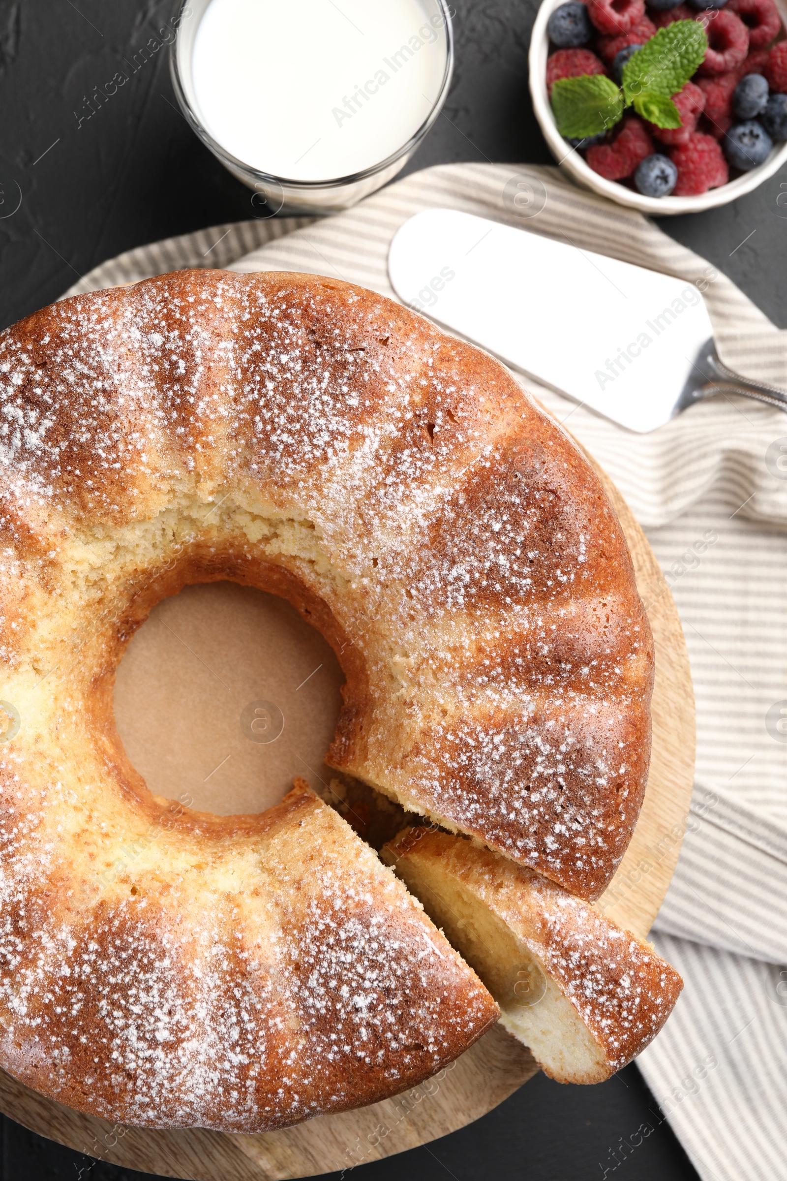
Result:
M722 360L787 386L787 332L704 259L556 168L427 169L327 220L218 226L131 250L67 294L197 266L304 270L395 299L391 240L435 207L696 283ZM683 621L697 700L687 836L651 934L686 988L638 1059L658 1109L649 1124L621 1129L601 1172L611 1175L667 1118L703 1181L787 1181L787 415L717 397L632 435L524 384L597 457L644 527Z

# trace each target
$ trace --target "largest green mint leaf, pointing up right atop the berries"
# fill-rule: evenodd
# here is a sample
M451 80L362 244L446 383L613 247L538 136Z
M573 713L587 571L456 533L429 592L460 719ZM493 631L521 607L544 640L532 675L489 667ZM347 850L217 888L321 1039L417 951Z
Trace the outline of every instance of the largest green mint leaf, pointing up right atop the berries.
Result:
M623 67L627 106L634 103L636 107L636 99L645 94L665 98L677 94L703 60L707 48L708 34L697 20L675 20L667 28L660 28Z

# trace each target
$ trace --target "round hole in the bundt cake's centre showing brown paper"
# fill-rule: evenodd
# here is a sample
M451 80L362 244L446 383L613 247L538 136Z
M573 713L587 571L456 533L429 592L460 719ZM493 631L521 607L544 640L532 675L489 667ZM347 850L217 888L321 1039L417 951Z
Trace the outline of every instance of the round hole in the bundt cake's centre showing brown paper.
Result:
M159 602L118 668L114 716L155 796L219 816L260 813L295 776L322 790L345 681L284 599L212 582Z

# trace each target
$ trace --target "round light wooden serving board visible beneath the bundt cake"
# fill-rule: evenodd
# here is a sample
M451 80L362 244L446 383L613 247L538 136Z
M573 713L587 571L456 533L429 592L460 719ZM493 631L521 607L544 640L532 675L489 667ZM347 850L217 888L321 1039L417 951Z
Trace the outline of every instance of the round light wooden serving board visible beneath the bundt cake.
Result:
M648 790L627 854L596 906L644 937L667 893L686 828L694 777L694 693L681 621L661 568L623 497L593 466L621 520L656 644ZM497 1107L537 1069L530 1052L496 1026L455 1063L405 1095L256 1136L112 1125L47 1100L2 1071L0 1109L41 1136L125 1168L189 1181L278 1181L349 1169L445 1136Z

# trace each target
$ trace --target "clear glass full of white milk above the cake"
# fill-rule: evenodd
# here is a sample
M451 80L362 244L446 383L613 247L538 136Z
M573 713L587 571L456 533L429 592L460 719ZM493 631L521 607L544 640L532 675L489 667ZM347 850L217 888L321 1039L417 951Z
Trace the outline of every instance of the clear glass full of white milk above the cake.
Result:
M182 0L175 92L258 216L374 193L438 118L453 70L446 0Z

